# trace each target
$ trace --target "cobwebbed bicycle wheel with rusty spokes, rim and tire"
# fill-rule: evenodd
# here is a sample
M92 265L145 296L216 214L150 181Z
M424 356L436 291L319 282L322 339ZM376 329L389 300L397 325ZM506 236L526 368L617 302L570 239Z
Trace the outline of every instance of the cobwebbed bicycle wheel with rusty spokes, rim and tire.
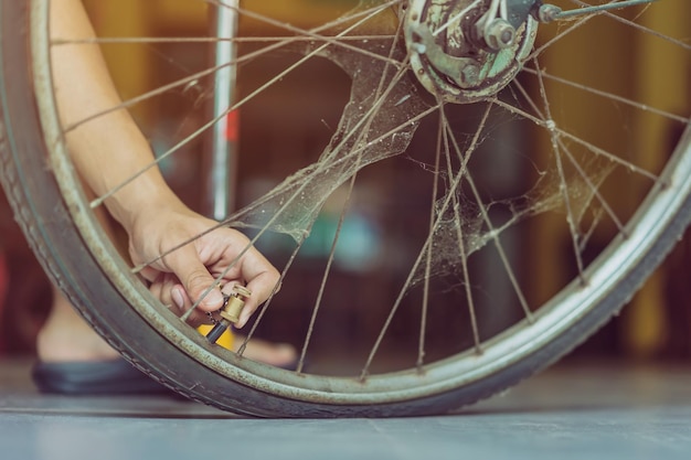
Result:
M161 306L104 237L51 97L51 47L79 44L49 40L49 3L0 7L3 186L94 328L203 403L293 417L474 403L584 341L689 223L685 0L548 24L525 12L479 29L500 2L170 0L171 11L214 6L240 18L228 113L242 110L252 156L238 159L242 207L222 224L247 231L283 269L249 339L268 331L302 352L296 371L243 359ZM193 119L183 142L160 141L160 158L196 164L163 159L185 158L182 147L217 121L188 111L212 96L214 68L181 57L214 39L157 30L99 43L162 63L163 81L124 90L125 106L145 105L142 129L157 141ZM152 101L171 94L191 99L183 118L149 128Z

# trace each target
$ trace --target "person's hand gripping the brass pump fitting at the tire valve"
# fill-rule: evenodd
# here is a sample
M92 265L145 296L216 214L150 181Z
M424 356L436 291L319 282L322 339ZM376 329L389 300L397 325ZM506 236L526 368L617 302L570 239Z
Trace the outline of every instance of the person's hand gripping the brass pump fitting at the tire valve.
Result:
M139 217L128 228L129 253L137 266L158 258L143 268L141 275L151 282L151 292L161 302L172 303L181 312L189 310L196 301L201 313L219 310L223 306L223 296L215 286L226 286L225 293L230 293L235 284L246 286L252 296L246 300L240 321L235 324L242 328L270 296L279 274L240 232L225 227L209 232L216 225L216 222L182 204L168 203ZM190 244L167 254L192 238ZM164 256L159 258L161 255ZM217 282L216 278L222 275ZM210 287L213 288L209 290ZM202 318L193 313L190 320L200 322Z

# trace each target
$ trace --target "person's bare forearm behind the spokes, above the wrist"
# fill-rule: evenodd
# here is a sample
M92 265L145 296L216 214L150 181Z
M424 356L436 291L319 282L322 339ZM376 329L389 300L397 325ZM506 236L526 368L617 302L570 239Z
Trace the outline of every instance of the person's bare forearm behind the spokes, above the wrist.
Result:
M53 39L82 40L94 36L81 0L52 0ZM63 127L120 104L96 44L53 46L53 77ZM129 115L119 109L89 120L66 135L78 172L88 186L103 195L153 161L151 149ZM150 168L106 201L109 212L128 231L146 208L177 202L158 168Z

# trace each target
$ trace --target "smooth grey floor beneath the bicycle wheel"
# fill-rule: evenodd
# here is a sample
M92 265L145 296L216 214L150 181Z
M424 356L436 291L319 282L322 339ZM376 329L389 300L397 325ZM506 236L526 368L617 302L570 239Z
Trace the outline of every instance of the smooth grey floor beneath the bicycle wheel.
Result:
M554 367L456 415L259 420L160 397L40 396L0 362L0 459L689 459L691 365Z

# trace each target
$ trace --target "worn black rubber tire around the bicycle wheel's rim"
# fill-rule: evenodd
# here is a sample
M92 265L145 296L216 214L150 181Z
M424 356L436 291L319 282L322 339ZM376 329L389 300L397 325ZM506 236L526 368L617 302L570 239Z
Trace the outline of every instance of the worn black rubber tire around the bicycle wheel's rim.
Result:
M334 406L293 400L232 382L168 340L129 308L85 247L46 163L34 101L30 1L0 2L0 181L15 218L45 271L84 318L138 368L190 398L252 416L383 417L439 414L508 388L545 367L602 327L665 259L691 220L691 199L620 285L566 334L488 378L432 397L393 404ZM682 142L691 141L687 129Z

